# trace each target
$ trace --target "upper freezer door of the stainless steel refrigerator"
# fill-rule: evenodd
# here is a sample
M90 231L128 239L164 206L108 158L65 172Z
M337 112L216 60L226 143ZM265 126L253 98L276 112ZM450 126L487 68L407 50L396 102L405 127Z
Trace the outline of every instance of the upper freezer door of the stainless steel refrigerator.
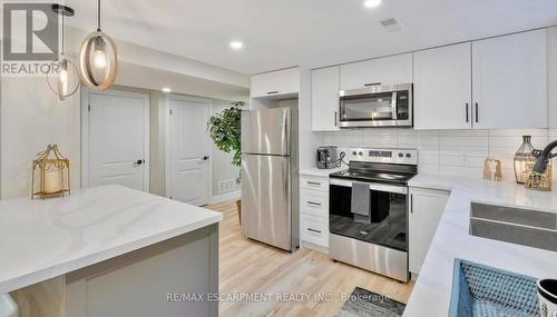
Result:
M276 108L242 112L242 152L289 156L291 109Z

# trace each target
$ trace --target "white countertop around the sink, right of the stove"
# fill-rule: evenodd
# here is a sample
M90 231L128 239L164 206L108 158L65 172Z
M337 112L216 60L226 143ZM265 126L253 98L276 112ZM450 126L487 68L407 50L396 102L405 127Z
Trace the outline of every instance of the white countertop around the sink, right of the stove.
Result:
M448 315L456 258L535 278L557 278L557 252L468 234L471 201L557 212L556 194L531 191L510 182L434 176L418 176L410 186L451 190L451 195L403 316Z

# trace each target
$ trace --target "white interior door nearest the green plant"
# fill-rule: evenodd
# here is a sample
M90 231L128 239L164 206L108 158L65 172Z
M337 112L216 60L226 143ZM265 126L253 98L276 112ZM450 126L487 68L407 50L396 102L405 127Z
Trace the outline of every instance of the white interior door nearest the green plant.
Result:
M208 204L209 103L169 100L168 196L192 205Z

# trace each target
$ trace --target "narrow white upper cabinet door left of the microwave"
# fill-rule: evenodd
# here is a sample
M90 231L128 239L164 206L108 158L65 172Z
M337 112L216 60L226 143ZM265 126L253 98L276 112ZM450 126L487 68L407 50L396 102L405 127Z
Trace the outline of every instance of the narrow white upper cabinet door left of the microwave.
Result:
M312 130L339 129L339 67L312 71Z

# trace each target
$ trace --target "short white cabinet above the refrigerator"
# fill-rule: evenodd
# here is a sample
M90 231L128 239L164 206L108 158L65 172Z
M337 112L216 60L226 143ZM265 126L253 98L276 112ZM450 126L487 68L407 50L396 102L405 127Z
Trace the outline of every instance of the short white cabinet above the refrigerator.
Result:
M252 98L300 92L300 69L289 68L252 76Z

